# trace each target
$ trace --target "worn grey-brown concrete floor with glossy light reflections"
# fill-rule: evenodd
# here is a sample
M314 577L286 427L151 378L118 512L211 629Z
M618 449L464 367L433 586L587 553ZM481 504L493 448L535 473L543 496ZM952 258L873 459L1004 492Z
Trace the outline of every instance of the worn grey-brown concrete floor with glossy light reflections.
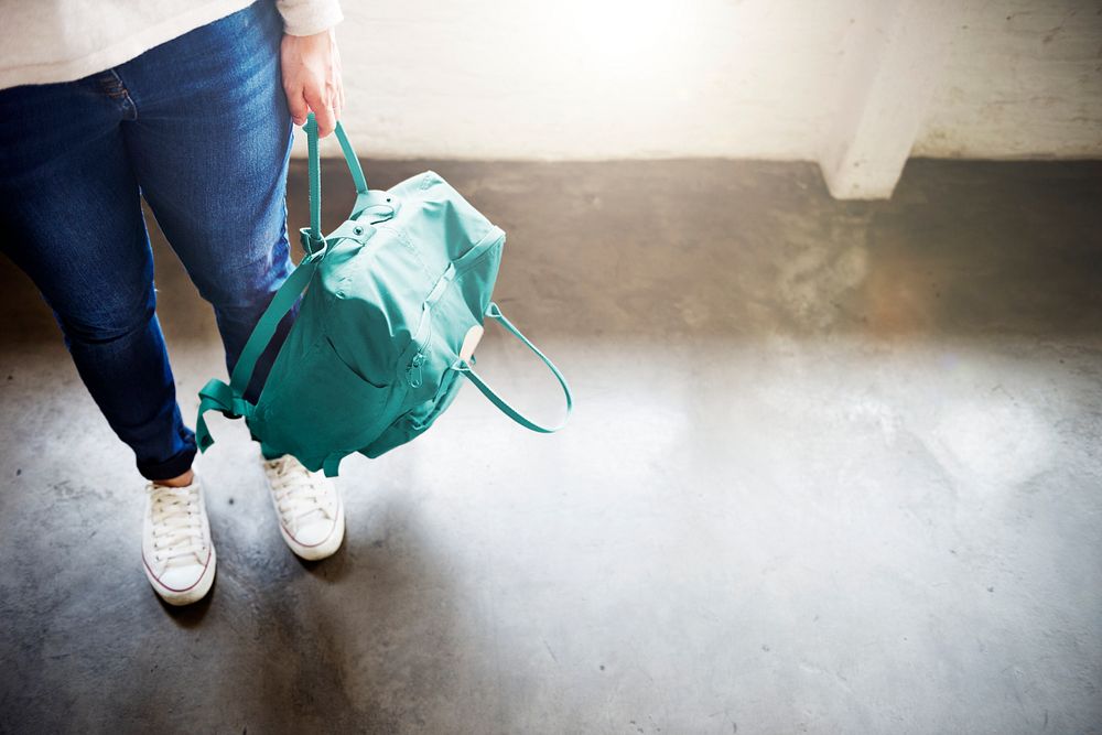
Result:
M0 729L1102 732L1102 164L917 161L878 204L799 164L431 165L509 233L497 299L573 423L465 389L346 462L346 543L305 564L217 418L218 576L184 610L139 566L128 451L0 264ZM158 248L193 418L219 345ZM557 415L500 332L479 357Z

